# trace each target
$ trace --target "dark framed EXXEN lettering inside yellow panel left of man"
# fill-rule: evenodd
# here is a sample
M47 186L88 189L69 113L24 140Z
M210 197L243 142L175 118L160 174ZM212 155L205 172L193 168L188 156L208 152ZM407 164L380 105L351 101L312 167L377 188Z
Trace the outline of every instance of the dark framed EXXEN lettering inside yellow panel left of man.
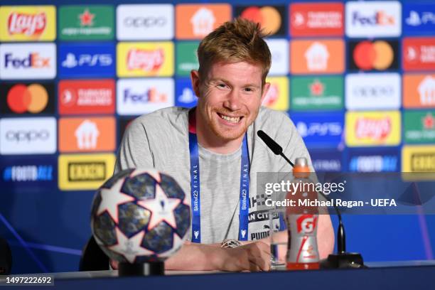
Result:
M68 181L104 181L106 178L106 163L104 162L68 163Z

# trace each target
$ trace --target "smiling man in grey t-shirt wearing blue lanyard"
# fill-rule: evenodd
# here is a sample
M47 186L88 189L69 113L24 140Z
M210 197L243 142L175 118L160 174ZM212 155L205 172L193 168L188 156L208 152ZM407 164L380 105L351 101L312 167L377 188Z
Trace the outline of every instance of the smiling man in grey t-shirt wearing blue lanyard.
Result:
M115 171L168 173L185 191L186 203L194 205L189 242L166 261L166 269L268 270L269 220L264 193L256 192L257 171L291 167L256 132L269 134L291 160L310 161L309 154L285 113L261 107L271 54L259 25L241 18L224 23L201 41L198 60L199 70L190 74L198 106L135 119L124 134ZM318 246L321 257L332 252L328 215L319 218Z

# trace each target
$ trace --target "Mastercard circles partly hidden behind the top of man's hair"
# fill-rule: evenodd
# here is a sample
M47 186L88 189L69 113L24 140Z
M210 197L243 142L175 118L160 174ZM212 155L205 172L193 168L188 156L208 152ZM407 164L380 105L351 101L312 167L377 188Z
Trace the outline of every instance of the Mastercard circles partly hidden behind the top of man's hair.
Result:
M257 22L264 29L265 33L275 34L281 28L282 20L279 11L272 6L251 6L242 11L242 18Z

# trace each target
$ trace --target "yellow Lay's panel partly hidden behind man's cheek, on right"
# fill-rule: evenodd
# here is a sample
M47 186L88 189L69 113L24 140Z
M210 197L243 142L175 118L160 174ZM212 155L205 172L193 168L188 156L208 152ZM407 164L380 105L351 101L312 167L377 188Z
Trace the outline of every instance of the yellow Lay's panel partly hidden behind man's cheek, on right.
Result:
M270 82L269 92L262 105L279 111L289 110L289 79L287 77L267 77Z

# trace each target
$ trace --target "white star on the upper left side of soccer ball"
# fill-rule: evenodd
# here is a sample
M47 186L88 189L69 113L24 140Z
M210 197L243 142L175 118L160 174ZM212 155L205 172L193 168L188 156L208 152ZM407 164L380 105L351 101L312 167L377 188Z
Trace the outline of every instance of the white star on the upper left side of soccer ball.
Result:
M100 190L101 203L97 210L97 215L104 213L104 210L109 213L114 222L118 223L118 205L134 201L134 198L125 193L121 193L122 184L124 180L121 179L112 186L112 188L102 188Z

